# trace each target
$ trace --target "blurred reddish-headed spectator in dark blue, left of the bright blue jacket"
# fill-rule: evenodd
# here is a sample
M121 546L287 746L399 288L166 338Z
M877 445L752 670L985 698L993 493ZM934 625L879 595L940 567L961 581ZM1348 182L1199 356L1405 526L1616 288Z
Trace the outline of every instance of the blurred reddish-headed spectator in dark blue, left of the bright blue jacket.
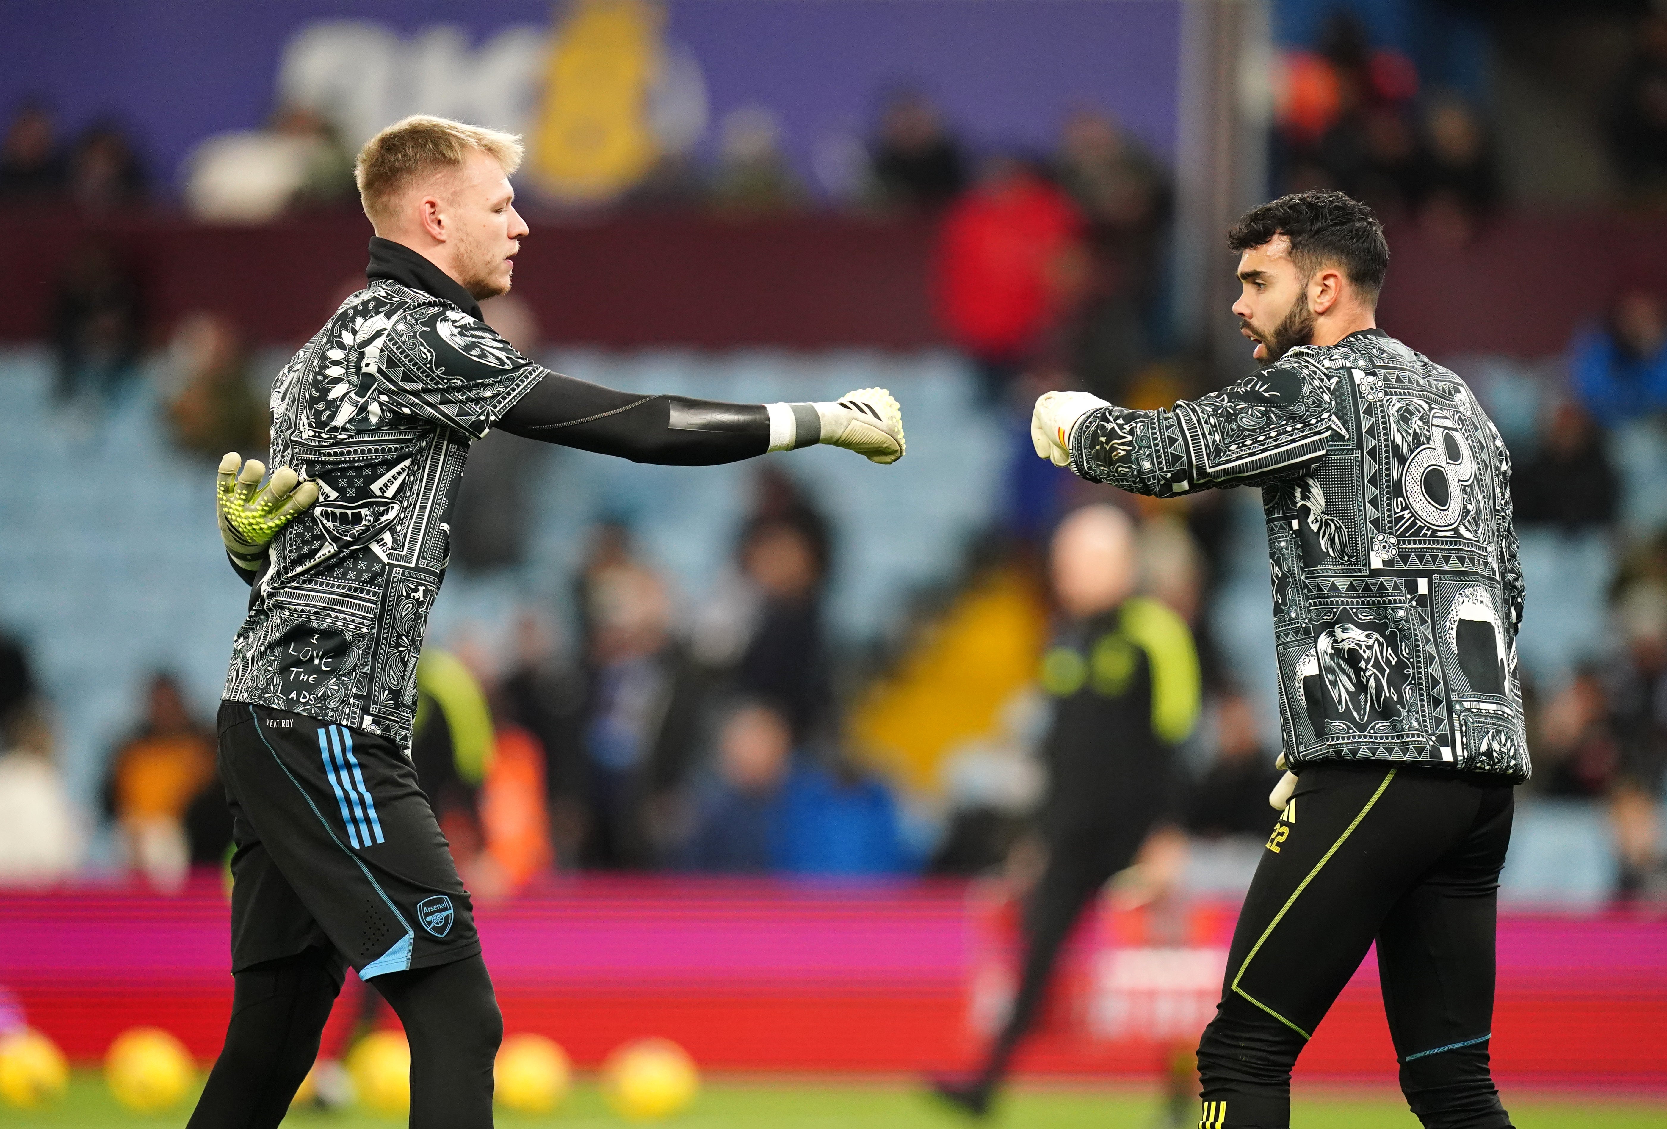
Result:
M782 854L782 784L793 755L787 719L743 704L718 732L717 779L695 799L682 864L708 874L765 874Z

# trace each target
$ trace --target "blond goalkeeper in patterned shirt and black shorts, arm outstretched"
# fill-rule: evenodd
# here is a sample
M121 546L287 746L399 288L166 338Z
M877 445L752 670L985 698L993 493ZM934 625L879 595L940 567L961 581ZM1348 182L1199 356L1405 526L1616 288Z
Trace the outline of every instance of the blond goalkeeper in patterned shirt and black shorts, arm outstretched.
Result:
M235 994L192 1129L283 1119L348 966L405 1026L410 1124L492 1124L503 1022L408 757L417 657L472 440L500 429L677 465L812 444L904 455L884 389L718 404L603 389L515 352L477 302L508 292L528 232L508 180L520 157L508 133L433 117L365 143L368 285L273 384L278 469L222 462L220 530L252 584L218 717Z

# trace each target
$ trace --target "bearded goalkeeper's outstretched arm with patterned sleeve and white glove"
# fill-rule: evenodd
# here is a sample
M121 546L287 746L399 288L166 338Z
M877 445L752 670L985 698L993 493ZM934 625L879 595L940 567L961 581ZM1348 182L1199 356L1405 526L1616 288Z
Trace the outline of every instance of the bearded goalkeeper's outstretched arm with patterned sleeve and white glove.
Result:
M1300 474L1337 432L1337 372L1295 349L1279 365L1220 392L1137 412L1085 392L1037 400L1037 455L1084 479L1134 494L1174 497Z

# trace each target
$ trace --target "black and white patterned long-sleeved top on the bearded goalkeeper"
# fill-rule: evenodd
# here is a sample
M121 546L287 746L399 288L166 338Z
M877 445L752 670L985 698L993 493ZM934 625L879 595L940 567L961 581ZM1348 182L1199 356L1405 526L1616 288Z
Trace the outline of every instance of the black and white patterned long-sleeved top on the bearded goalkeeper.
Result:
M1097 409L1070 465L1154 497L1262 487L1294 769L1529 777L1510 455L1455 374L1362 330L1170 409Z

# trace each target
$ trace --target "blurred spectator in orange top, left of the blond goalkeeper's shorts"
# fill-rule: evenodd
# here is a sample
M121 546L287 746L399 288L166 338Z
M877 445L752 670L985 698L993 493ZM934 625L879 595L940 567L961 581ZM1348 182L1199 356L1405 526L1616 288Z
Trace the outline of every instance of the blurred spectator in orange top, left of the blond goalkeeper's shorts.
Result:
M105 814L122 832L128 864L173 889L190 864L185 810L213 779L213 732L185 705L178 684L157 674L145 717L110 759Z

